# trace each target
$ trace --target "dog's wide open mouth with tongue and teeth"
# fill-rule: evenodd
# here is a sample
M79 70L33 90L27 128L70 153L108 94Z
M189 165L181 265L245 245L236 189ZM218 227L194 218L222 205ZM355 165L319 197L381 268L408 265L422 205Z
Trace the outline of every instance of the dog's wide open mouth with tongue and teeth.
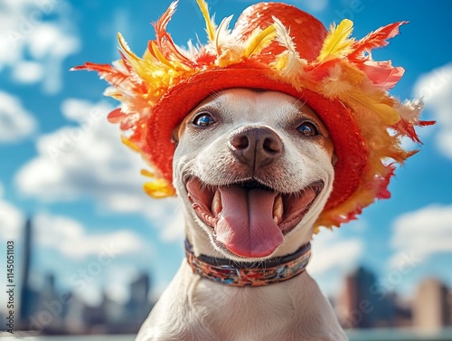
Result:
M215 241L247 258L271 255L284 234L303 220L323 186L315 182L303 191L281 194L254 180L209 186L192 177L186 183L193 210L212 227Z

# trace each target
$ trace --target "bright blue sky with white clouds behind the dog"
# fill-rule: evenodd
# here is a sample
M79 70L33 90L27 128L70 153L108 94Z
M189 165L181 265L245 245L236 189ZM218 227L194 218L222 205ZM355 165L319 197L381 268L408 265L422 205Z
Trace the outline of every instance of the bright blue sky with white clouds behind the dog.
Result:
M177 200L155 201L142 193L139 170L145 165L121 145L118 127L106 120L118 103L102 96L106 84L95 73L69 71L85 61L118 59L118 31L135 52L144 51L154 34L149 23L169 3L0 2L0 242L15 239L20 251L24 218L33 214L37 286L43 273L52 272L60 289L91 303L101 289L125 300L138 272L152 272L158 293L180 265L183 220ZM220 22L230 14L237 18L251 3L215 0L210 7ZM392 94L423 96L423 118L438 121L420 131L425 145L397 170L390 200L367 208L357 222L315 236L311 273L331 296L359 264L374 270L388 290L410 294L427 276L452 286L452 3L287 3L326 26L350 18L358 38L383 24L410 21L373 57L403 66L406 73ZM195 0L181 0L169 29L180 45L195 40L196 33L204 40ZM99 270L106 254L110 261ZM83 270L89 278L81 277Z

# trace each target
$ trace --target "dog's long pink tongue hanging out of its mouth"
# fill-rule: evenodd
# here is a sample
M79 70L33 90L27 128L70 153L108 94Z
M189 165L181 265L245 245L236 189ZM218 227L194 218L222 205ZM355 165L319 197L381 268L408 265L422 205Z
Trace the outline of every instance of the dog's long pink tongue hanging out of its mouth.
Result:
M220 187L222 211L215 227L217 240L231 252L250 258L266 257L283 242L273 220L276 193L249 191L240 186Z

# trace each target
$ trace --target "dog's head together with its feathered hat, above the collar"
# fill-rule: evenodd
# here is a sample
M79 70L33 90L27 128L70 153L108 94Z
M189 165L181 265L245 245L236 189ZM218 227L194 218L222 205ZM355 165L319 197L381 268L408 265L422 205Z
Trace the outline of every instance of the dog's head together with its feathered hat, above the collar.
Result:
M106 93L122 104L108 119L148 161L146 193L177 188L193 251L282 255L307 242L313 224L340 226L390 197L395 165L415 154L402 137L420 142L415 128L433 123L419 119L419 100L388 92L403 69L372 60L404 22L356 40L350 20L328 32L293 5L251 5L233 29L231 16L217 26L205 1L198 5L206 44L177 47L166 31L174 2L143 58L119 35L119 61L72 68L98 71L111 85Z

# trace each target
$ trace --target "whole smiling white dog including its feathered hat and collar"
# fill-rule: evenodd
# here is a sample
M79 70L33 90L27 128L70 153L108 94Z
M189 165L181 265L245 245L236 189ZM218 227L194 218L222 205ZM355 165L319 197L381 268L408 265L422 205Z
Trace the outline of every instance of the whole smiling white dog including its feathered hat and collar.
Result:
M166 31L175 1L143 58L118 34L120 60L71 69L99 72L121 102L108 120L148 162L146 193L183 202L187 257L137 340L346 340L306 272L310 241L389 198L415 154L400 137L420 142L415 128L434 123L388 92L403 69L372 59L406 22L356 40L349 19L327 31L264 2L229 29L196 2L204 45L185 51Z

